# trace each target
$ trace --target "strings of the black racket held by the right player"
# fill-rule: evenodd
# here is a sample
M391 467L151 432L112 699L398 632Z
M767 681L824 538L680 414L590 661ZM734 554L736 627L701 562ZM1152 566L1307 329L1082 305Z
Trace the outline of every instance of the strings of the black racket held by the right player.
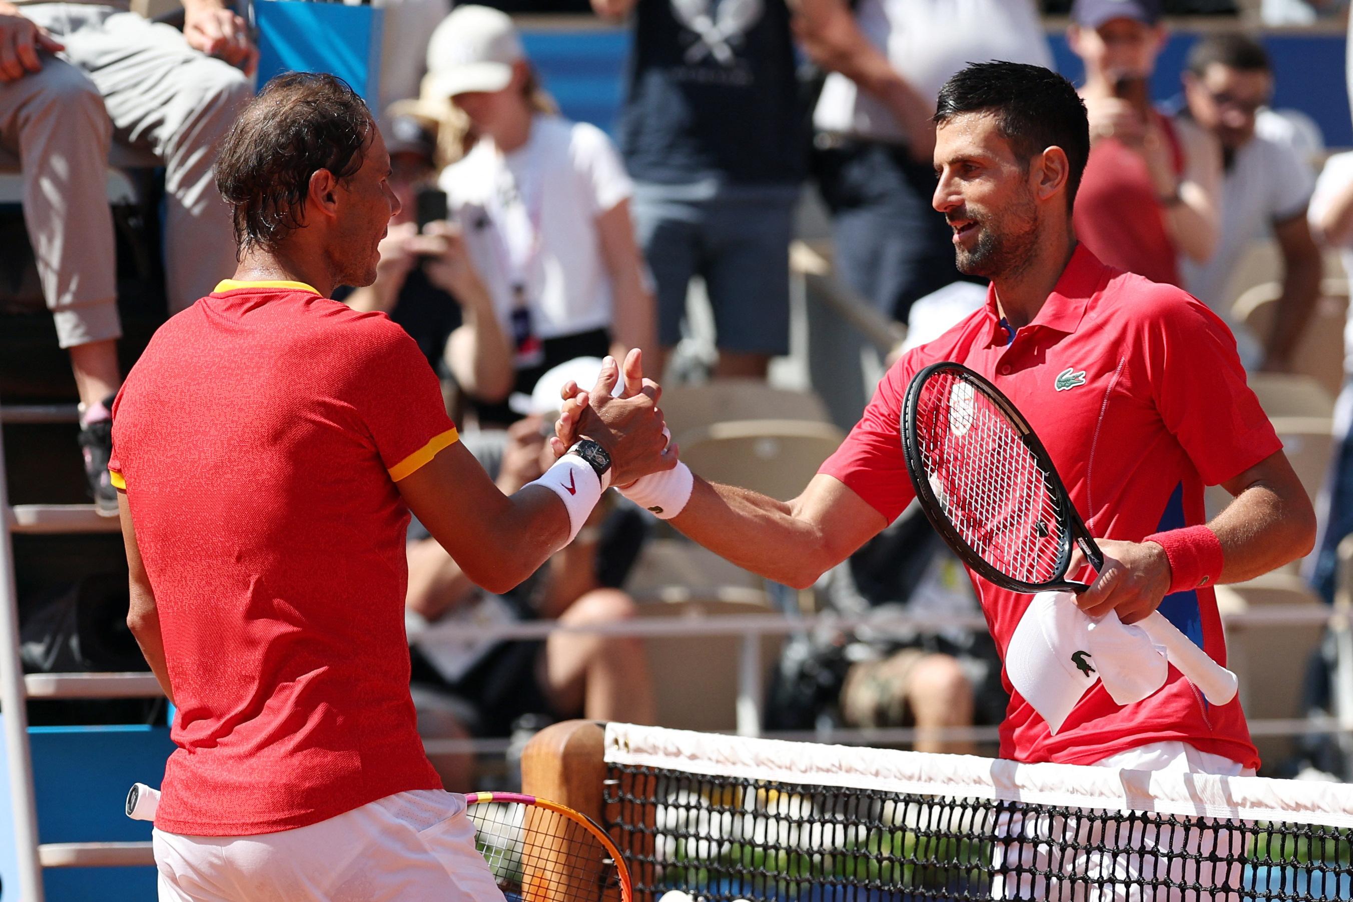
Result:
M916 440L940 510L982 560L1024 583L1059 575L1066 525L1051 477L990 398L936 373L916 400Z

